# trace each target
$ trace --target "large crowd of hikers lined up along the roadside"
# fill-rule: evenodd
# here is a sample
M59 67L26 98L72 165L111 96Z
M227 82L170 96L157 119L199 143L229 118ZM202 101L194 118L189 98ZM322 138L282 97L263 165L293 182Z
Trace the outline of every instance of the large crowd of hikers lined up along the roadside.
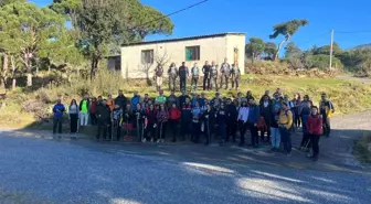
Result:
M53 108L54 133L56 127L59 132L62 131L64 111L66 108L57 100ZM259 100L255 100L250 90L245 96L239 93L232 98L221 97L216 93L212 99L206 98L204 93L188 96L184 90L180 96L171 90L168 97L160 90L156 98L150 98L148 94L141 97L135 92L131 98L127 98L119 90L115 99L112 95L107 99L98 96L92 100L85 96L80 105L73 99L68 106L71 132L78 131L78 124L86 126L89 117L92 125L98 127L97 140L102 139L103 133L104 140L119 141L125 132L124 140L132 140L132 136L136 136L141 142L163 142L170 135L172 142L190 139L198 143L202 137L205 144L216 138L220 144L239 139L239 144L244 146L245 135L250 130L251 146L254 148L259 146L259 141L266 141L271 142L272 151L283 149L285 154L290 155L292 132L301 127L300 149L308 151L311 147L310 157L314 160L318 160L320 136L330 135L332 112L333 105L325 93L317 107L307 95L301 98L296 94L289 99L280 88L273 96L266 90Z

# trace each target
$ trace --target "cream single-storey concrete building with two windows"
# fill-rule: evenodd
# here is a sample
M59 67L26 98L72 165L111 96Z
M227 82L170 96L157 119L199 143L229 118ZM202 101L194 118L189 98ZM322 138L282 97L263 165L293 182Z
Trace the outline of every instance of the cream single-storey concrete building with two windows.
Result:
M191 68L201 68L205 61L222 64L224 58L237 64L244 74L245 34L221 33L183 39L131 43L121 47L121 74L125 78L153 76L158 63L165 64L167 73L171 63L179 67L182 62Z

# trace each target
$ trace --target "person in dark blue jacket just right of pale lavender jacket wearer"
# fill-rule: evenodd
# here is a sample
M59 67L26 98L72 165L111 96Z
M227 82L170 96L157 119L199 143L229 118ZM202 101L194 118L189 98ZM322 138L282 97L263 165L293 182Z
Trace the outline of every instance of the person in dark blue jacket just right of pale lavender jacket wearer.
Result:
M256 105L254 99L250 99L247 122L250 125L250 132L252 135L252 146L254 148L258 147L257 122L259 118L261 118L259 107Z

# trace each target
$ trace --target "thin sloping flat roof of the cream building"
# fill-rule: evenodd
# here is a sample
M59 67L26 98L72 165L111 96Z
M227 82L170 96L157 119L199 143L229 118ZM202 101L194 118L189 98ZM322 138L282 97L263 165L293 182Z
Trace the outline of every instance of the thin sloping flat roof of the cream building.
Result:
M210 37L219 37L219 36L226 36L226 35L245 35L245 33L239 33L239 32L215 33L215 34L206 34L206 35L179 37L179 39L129 43L129 44L121 44L121 46L145 45L145 44L156 44L156 43L169 43L169 42L178 42L178 41L192 41L192 40L199 40L199 39L210 39Z

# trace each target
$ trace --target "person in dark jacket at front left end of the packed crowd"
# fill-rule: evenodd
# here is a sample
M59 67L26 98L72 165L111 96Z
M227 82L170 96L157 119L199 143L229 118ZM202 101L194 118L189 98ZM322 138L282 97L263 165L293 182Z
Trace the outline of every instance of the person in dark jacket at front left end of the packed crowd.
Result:
M103 100L97 105L97 120L98 120L98 132L96 139L100 139L100 132L103 128L103 139L107 139L107 131L108 131L108 137L112 136L112 129L110 129L110 110L109 107L107 106L107 100Z

